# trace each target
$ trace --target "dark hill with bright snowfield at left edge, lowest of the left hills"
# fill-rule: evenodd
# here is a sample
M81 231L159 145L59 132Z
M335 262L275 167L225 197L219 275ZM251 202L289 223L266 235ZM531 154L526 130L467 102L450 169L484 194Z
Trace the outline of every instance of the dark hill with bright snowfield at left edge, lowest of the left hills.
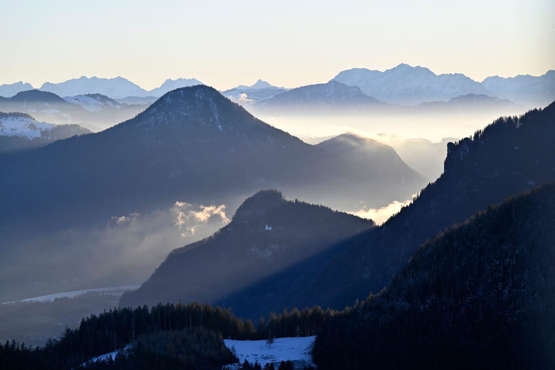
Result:
M36 149L88 133L90 130L79 125L54 125L38 122L25 113L0 112L0 153Z

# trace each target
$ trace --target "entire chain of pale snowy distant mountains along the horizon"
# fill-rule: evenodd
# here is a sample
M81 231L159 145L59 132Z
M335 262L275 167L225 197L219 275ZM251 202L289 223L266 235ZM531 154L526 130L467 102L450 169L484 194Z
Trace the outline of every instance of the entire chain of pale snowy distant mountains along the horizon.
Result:
M425 102L448 102L452 98L467 94L488 95L499 99L508 99L524 107L542 107L555 100L555 71L549 70L541 76L518 75L501 78L488 77L481 83L460 73L435 74L424 67L412 67L399 64L384 72L366 68L352 68L337 74L330 81L337 81L349 87L359 87L362 94L381 102L400 105L418 105ZM138 98L160 97L172 89L202 84L191 78L168 79L159 88L147 91L123 77L98 78L80 77L62 83L44 83L40 90L53 92L60 97L99 93L113 99L125 99L122 103L152 103L152 99ZM315 86L315 85L312 85ZM0 85L0 96L11 97L18 92L32 89L31 84L18 82ZM302 88L309 88L305 86ZM276 87L259 79L253 85L239 85L225 90L223 95L241 105L250 105L262 99L289 89ZM275 104L275 103L269 103ZM295 107L298 109L299 107Z

